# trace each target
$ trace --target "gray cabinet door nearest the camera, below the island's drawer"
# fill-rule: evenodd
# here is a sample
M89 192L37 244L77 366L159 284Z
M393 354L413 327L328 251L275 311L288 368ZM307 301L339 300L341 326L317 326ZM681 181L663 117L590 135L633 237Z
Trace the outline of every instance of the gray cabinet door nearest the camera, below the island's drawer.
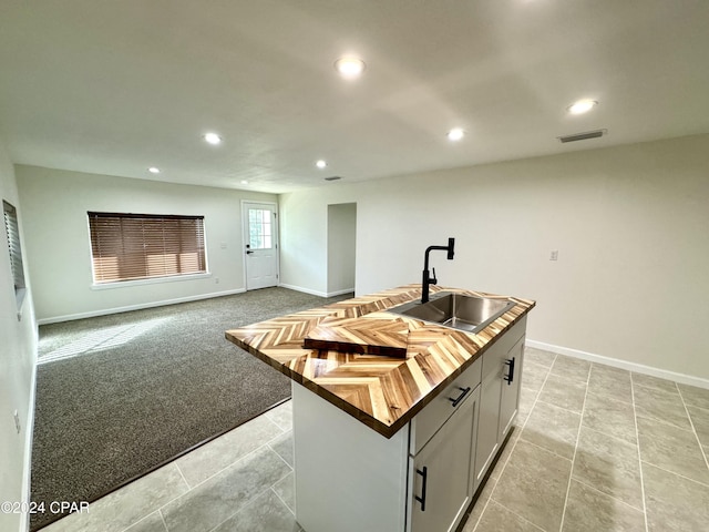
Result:
M410 459L411 532L455 530L473 492L470 472L480 387Z

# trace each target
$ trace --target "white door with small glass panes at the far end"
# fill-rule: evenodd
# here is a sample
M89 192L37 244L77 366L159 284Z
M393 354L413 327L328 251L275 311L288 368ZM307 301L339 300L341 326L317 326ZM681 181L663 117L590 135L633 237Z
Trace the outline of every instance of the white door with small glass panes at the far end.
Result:
M274 203L244 202L246 289L278 285L278 214Z

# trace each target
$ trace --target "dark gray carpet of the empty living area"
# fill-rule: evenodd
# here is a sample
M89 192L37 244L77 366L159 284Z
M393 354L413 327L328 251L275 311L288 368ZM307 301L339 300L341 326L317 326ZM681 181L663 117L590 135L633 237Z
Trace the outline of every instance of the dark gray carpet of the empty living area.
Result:
M94 501L287 399L224 331L347 297L265 288L41 326L32 501Z

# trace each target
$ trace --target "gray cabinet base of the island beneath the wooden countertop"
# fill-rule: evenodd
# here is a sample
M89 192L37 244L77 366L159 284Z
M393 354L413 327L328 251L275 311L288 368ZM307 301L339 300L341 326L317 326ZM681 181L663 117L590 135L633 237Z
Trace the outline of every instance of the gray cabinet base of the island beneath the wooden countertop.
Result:
M296 516L309 532L460 524L517 409L525 319L387 439L294 383ZM507 383L506 360L515 359ZM425 494L424 494L425 489Z

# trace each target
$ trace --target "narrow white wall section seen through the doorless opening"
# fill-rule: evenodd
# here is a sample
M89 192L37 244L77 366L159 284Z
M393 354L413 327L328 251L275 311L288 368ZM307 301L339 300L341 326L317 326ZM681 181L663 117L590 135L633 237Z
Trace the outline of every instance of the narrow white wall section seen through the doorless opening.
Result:
M357 204L328 205L328 295L354 290Z

